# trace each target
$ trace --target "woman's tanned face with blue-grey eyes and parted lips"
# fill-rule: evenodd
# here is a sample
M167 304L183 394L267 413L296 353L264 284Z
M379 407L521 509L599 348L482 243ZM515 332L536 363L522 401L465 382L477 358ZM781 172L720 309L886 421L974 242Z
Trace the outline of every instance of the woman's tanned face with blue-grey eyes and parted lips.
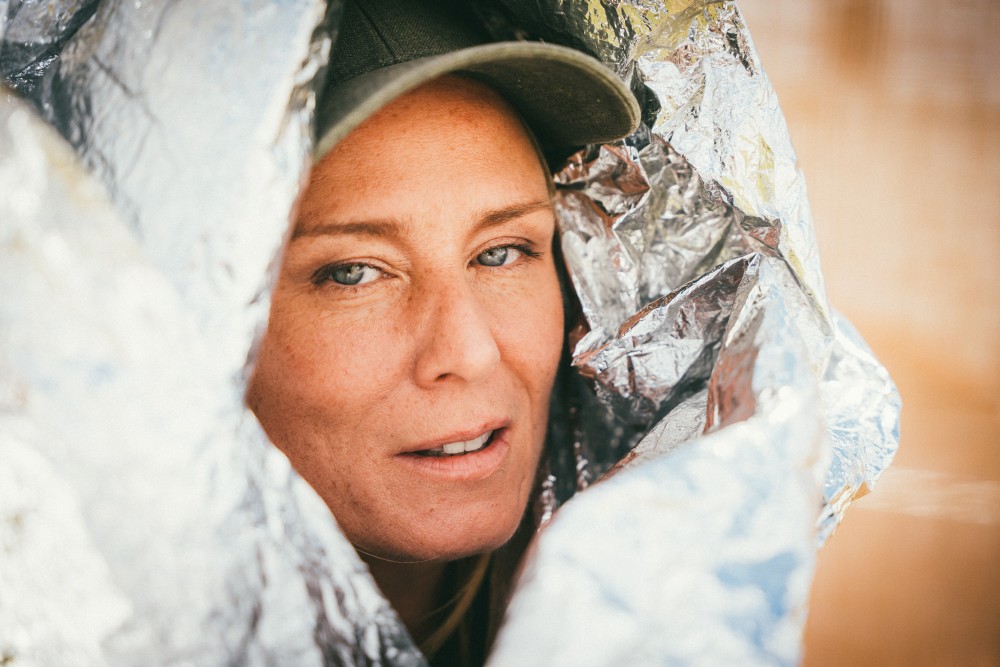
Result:
M314 168L248 403L360 550L513 534L562 347L553 232L531 140L472 81L408 93Z

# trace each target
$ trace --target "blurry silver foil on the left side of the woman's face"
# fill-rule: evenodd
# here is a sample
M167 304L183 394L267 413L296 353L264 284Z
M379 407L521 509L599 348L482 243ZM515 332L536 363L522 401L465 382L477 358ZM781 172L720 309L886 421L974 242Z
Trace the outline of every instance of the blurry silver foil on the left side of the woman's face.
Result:
M33 94L113 208L3 94L0 663L423 664L242 404L332 18L103 2Z

